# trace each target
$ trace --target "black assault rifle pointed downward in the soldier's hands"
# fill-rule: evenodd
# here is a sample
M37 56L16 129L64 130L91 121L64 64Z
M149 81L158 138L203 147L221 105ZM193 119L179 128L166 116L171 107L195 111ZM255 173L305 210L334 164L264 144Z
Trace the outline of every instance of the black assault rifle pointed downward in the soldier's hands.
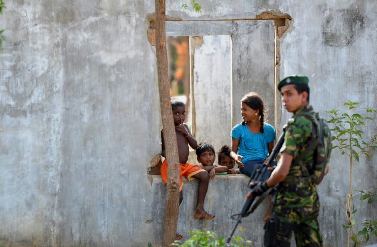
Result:
M251 182L260 181L261 178L264 177L265 173L268 172L268 169L267 169L268 167L273 167L273 161L276 159L276 156L279 153L280 148L281 148L281 146L283 145L283 142L284 142L284 133L285 132L283 131L283 133L280 135L275 147L272 149L271 155L269 156L269 160L267 162L263 163L261 168L256 169L253 172L253 174L251 174L250 181L247 184L248 187L250 187ZM248 199L246 199L246 201L243 203L241 212L239 214L235 214L235 215L231 216L232 220L237 220L237 222L236 222L236 225L234 226L230 236L228 237L226 243L229 243L230 240L232 239L232 236L233 236L234 232L236 231L237 226L241 223L241 219L243 217L249 216L251 213L254 212L254 210L258 207L258 205L266 198L266 196L272 190L272 187L269 188L265 193L263 193L263 195L261 195L259 197L258 201L255 202L254 205L253 205L253 202L254 202L255 198L257 197L253 193L254 190L255 190L254 188L251 188L252 195ZM251 209L250 209L250 207L251 207Z

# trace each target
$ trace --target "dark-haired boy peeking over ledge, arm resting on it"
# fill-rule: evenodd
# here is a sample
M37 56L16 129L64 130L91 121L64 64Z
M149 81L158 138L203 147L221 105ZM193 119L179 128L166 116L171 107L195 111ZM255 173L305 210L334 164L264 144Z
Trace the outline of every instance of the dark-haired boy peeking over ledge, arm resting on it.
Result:
M214 179L215 174L228 174L228 167L222 165L214 165L216 160L215 149L211 144L206 142L200 143L196 148L197 160L202 164L203 169L208 171L210 179Z

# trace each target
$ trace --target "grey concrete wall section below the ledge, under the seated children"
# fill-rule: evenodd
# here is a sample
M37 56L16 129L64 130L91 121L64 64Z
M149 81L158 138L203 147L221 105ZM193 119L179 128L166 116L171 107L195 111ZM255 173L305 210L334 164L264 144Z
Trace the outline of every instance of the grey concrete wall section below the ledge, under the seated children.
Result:
M206 228L215 231L219 236L227 237L236 223L230 216L241 211L245 195L249 192L248 181L249 177L245 175L215 175L215 178L209 183L204 209L216 216L212 220L197 220L193 214L196 206L198 181L188 181L184 178L183 202L179 207L178 232L188 237L187 230ZM156 239L161 239L166 184L160 175L152 175L152 194L154 195L151 206L152 224L156 231ZM243 218L234 235L253 241L255 246L263 246L264 221L262 218L268 205L268 200L265 199L254 213Z

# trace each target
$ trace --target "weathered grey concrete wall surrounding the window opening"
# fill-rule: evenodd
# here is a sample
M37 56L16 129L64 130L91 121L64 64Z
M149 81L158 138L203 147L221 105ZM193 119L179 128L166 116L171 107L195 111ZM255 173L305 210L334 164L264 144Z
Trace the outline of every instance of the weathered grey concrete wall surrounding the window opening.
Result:
M5 3L0 16L0 29L6 29L0 54L0 245L159 244L164 185L147 172L161 148L156 59L147 37L154 1ZM197 13L182 9L181 1L167 0L166 14L185 21L255 18L264 11L289 14L288 29L277 39L277 77L308 75L311 103L323 116L347 100L377 108L377 2L200 4ZM240 88L254 90L243 84L251 76L245 76ZM289 114L277 105L279 130ZM235 103L232 107L238 109ZM373 130L367 127L366 136ZM354 188L375 184L376 159L372 153L357 165ZM227 233L233 223L229 215L243 202L246 181L225 176L211 182L205 207L216 213L213 221L190 218L196 187L187 182L179 231L206 227ZM319 186L319 221L327 247L345 246L348 189L348 161L335 151L330 174ZM256 246L261 245L257 236L263 205L258 210L239 233ZM375 211L375 205L363 205L358 219Z

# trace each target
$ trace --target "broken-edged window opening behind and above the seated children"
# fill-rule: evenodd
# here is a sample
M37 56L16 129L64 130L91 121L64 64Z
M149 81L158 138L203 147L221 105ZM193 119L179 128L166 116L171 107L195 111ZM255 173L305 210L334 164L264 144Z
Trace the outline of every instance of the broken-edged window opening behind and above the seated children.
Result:
M284 16L284 18L286 17ZM275 98L277 96L274 92L274 84L279 72L278 61L280 56L279 50L275 50L275 45L279 48L279 38L288 25L285 22L276 23L276 20L280 21L284 18L280 16L270 19L261 18L267 20L266 22L251 19L166 22L170 96L171 98L180 98L185 102L187 112L185 123L198 142L207 141L214 145L217 141L221 144L230 145L227 141L229 138L230 142L230 130L235 123L239 122L239 100L248 91L257 91L265 101L269 101L269 121L273 123L275 128L278 128L275 118ZM271 20L275 20L275 23ZM284 28L284 30L279 30L281 28ZM212 65L212 62L219 58L213 56L210 58L212 60L206 60L205 56L198 56L197 51L201 49L200 42L203 42L206 37L216 37L216 35L227 36L230 40L230 51L228 51L230 78L221 78L223 81L228 80L227 82L230 82L228 84L230 89L224 88L223 84L218 83L218 78L213 77L216 72L214 72L215 66ZM222 53L223 45L219 47L212 49L214 54ZM208 47L206 49L208 51ZM208 61L211 62L212 66L208 64L204 66L207 72L204 72L204 69L199 71L198 68L201 68ZM210 73L212 73L212 77L203 79ZM223 90L221 92L215 90L214 92L213 85L217 87L216 90L218 88ZM221 98L221 102L209 102L206 98L207 92ZM230 93L229 99L224 98L227 92ZM230 115L230 120L224 120L223 116L219 116L219 113L221 113L219 109L222 109L224 105L230 108L230 110L224 110L227 116ZM213 112L215 112L215 116L211 115ZM209 126L210 131L207 131L203 126ZM218 141L222 135L227 137L226 141ZM213 139L210 139L210 137ZM216 151L220 148L216 144L214 147ZM196 163L196 156L192 156L194 158L192 163ZM190 162L190 158L188 162Z

